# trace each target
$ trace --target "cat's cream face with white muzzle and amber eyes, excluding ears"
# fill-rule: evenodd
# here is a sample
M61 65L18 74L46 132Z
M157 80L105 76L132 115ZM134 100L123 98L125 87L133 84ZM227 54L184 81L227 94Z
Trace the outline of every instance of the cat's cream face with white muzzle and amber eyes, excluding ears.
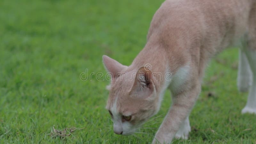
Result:
M157 111L154 93L130 91L125 82L116 81L110 88L107 109L114 123L116 134L128 135L136 131ZM131 85L132 86L132 85Z

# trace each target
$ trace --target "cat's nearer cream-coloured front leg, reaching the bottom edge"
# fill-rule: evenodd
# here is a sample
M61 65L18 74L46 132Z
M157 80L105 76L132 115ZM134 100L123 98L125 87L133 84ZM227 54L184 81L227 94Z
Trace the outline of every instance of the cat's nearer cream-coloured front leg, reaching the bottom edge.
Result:
M200 93L200 83L193 84L189 89L172 97L173 105L165 116L163 123L156 132L153 144L171 143L180 125L189 115Z

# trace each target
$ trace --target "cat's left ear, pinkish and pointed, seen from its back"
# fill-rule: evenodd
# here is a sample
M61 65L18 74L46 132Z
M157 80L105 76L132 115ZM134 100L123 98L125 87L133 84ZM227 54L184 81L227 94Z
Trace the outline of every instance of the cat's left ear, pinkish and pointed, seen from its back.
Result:
M111 74L112 77L115 77L118 72L121 72L124 68L127 67L106 55L102 56L102 60L104 63L104 67Z

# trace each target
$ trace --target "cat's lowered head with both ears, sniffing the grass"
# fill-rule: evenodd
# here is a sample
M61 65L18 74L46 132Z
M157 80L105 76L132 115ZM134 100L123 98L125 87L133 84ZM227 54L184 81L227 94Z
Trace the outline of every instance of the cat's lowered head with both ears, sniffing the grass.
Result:
M114 132L132 134L160 107L152 72L144 66L132 69L105 55L103 63L112 77L111 84L107 86L106 108L112 117Z

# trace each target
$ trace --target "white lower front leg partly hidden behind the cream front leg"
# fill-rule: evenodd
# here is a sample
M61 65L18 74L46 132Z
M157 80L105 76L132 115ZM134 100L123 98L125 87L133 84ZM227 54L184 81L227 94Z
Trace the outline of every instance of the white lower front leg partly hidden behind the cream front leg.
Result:
M185 121L180 125L180 129L178 132L175 134L176 139L188 139L188 134L191 131L191 127L189 124L189 119L188 117L185 119Z

